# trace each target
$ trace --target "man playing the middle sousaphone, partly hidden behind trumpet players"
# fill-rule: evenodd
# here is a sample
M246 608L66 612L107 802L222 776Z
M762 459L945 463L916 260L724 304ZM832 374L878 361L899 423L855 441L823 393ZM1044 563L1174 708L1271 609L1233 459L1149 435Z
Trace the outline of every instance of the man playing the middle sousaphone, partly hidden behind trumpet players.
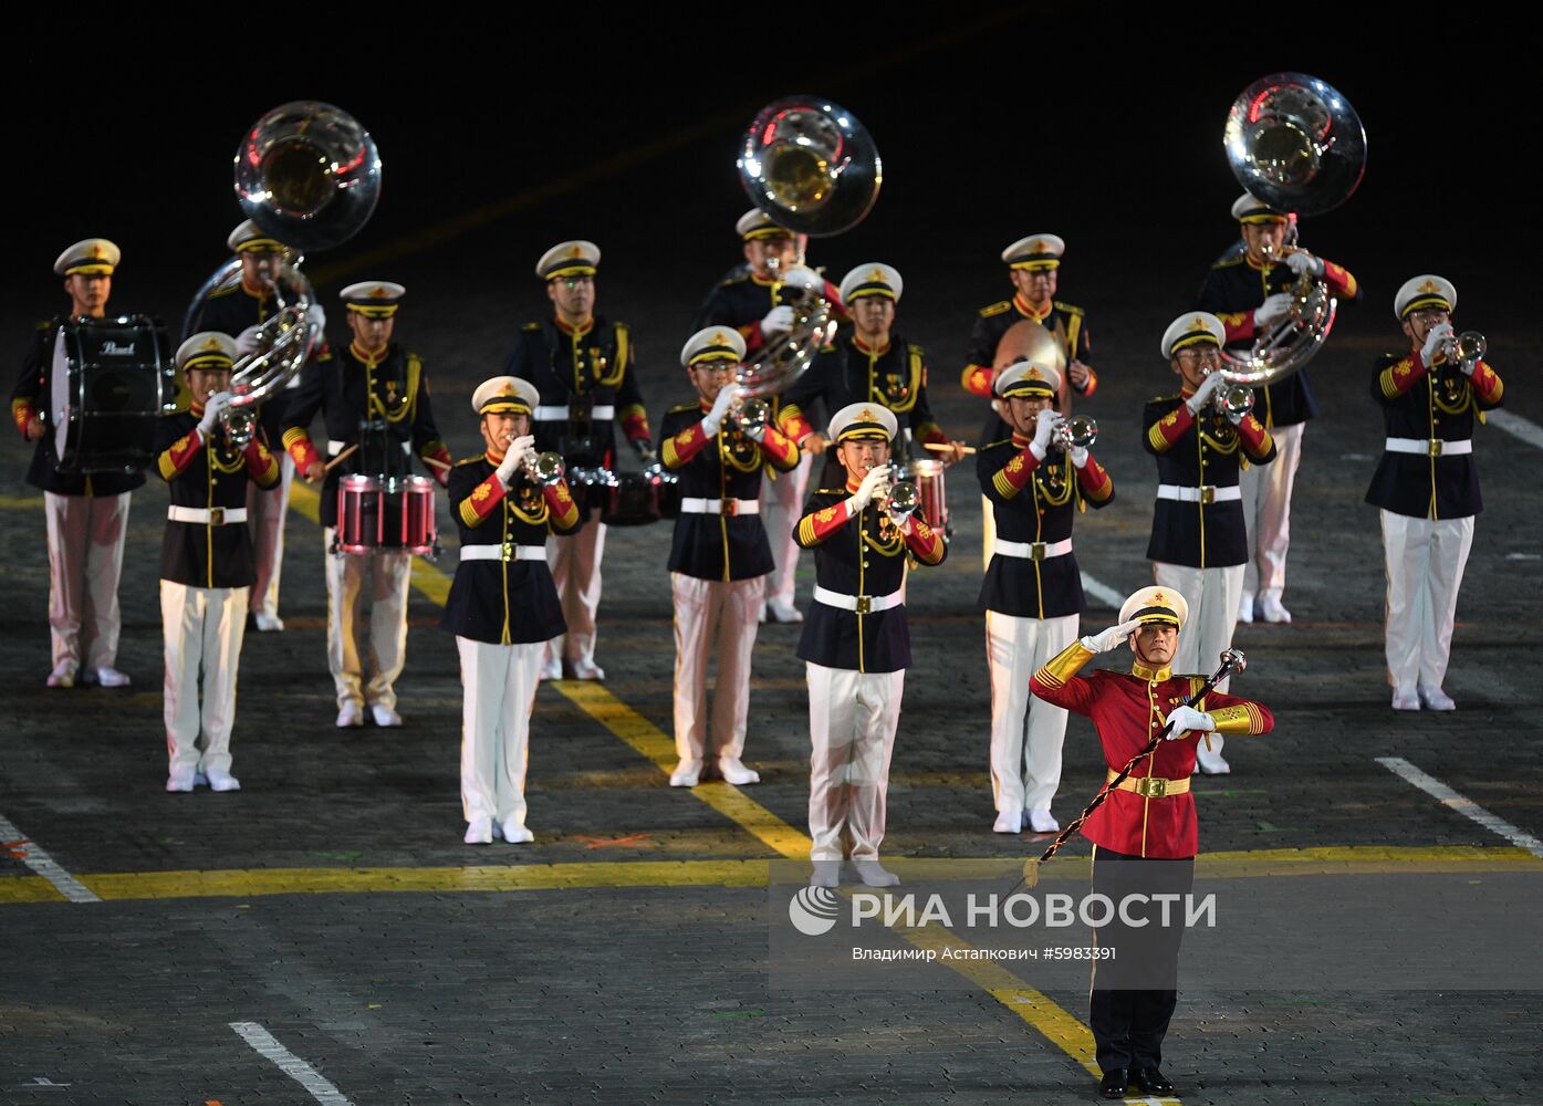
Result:
M795 234L779 227L759 208L739 216L734 230L744 245L748 268L744 275L731 276L713 288L697 312L694 322L697 330L734 327L745 339L747 356L753 359L762 346L792 330L793 299L819 292L835 305L839 316L839 292L830 281L804 267L805 234ZM778 410L776 400L772 401L772 410L773 413ZM773 622L804 620L795 602L798 543L793 541L792 532L812 466L813 454L805 452L798 467L788 474L767 469L767 480L761 489L773 565L767 578L762 617L770 615Z

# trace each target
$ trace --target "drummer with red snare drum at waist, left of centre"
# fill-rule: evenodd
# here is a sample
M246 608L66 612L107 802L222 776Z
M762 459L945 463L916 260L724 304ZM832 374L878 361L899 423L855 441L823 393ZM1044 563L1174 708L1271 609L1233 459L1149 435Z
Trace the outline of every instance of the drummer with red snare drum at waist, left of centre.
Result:
M397 691L407 659L407 589L412 557L403 549L335 555L338 481L344 474L406 477L417 454L440 484L451 452L440 441L423 361L392 341L407 290L390 281L350 284L341 299L353 341L336 359L312 361L284 413L284 449L295 470L321 489L322 549L327 551L327 666L338 691L338 725L400 727ZM327 457L310 440L321 412ZM349 447L347 457L336 460Z

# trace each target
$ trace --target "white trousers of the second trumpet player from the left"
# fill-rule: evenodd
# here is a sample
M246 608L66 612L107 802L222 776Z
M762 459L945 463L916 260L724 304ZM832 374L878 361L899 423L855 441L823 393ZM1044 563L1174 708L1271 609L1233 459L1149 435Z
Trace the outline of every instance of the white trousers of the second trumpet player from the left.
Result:
M525 825L525 765L543 642L489 645L457 637L461 654L461 813Z

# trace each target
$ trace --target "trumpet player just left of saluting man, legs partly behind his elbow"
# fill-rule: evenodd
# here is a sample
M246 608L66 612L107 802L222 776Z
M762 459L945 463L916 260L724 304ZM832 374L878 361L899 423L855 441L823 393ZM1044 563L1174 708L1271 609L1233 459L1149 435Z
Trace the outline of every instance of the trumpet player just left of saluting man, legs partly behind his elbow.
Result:
M1066 711L1029 696L1029 676L1077 637L1086 608L1071 529L1086 504L1103 507L1114 481L1091 443L1071 441L1055 410L1060 373L1020 361L997 376L1012 437L975 455L995 517L980 602L991 665L991 790L997 833L1055 833L1051 799L1060 785Z

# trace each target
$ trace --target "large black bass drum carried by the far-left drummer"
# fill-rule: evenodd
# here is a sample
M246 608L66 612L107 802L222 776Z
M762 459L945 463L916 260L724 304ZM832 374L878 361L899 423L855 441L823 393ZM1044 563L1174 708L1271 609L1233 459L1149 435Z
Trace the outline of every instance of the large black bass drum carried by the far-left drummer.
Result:
M176 412L165 325L148 315L56 322L49 376L62 472L137 472L156 460L156 427Z

